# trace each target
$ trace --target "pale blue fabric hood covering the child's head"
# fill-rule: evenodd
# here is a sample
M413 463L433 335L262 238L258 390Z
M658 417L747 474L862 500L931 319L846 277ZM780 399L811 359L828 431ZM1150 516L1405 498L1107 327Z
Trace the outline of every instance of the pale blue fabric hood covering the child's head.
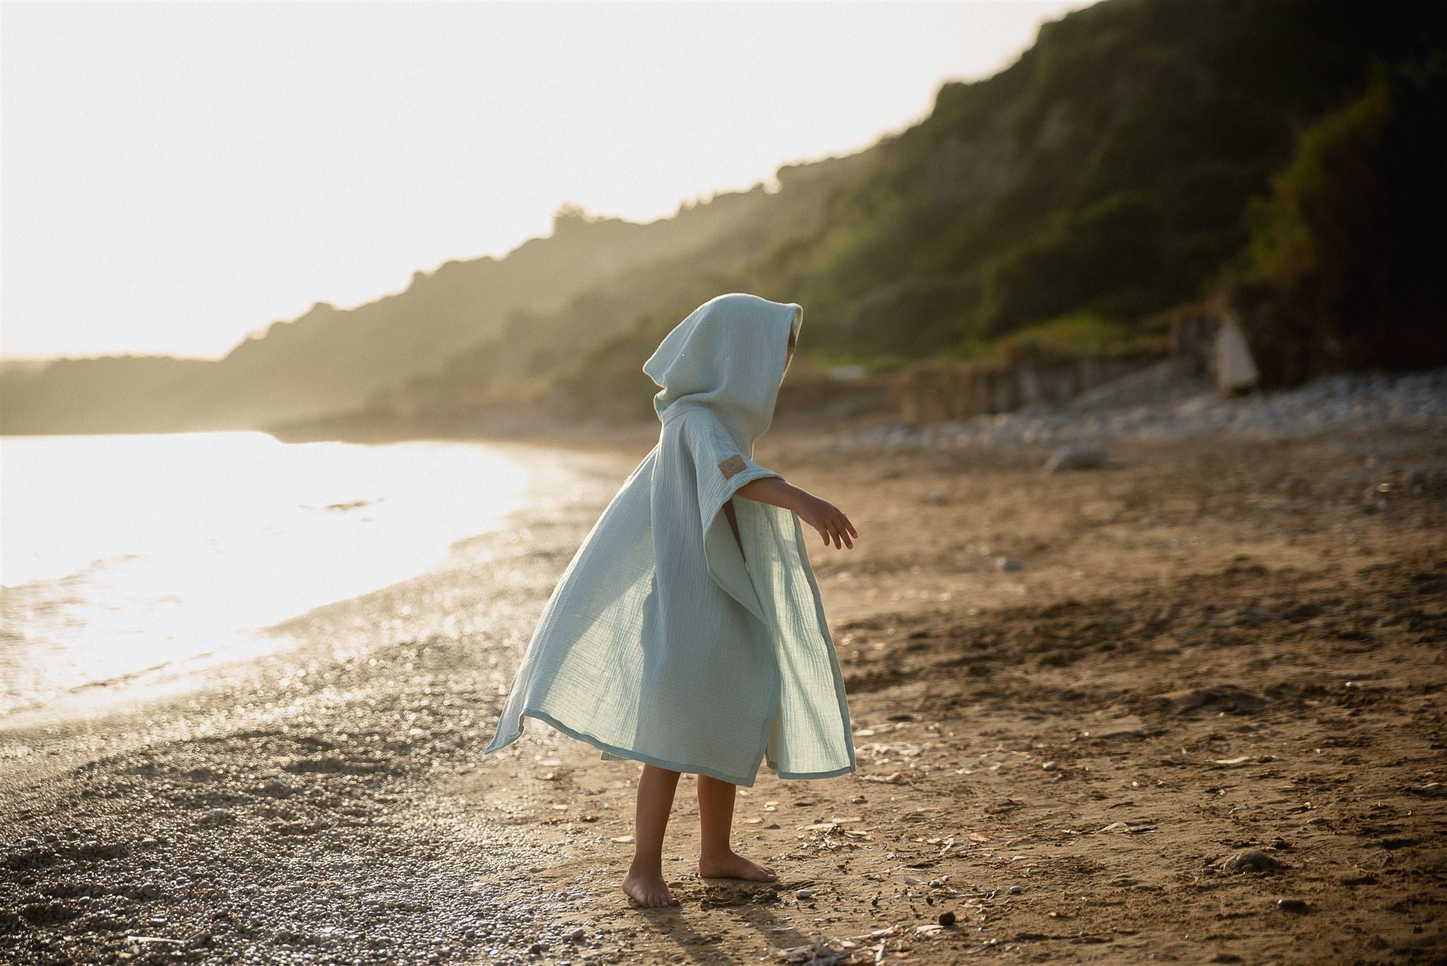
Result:
M673 327L642 371L660 387L654 411L664 423L706 407L737 436L752 442L774 419L784 378L789 333L797 342L805 310L729 293L716 295Z

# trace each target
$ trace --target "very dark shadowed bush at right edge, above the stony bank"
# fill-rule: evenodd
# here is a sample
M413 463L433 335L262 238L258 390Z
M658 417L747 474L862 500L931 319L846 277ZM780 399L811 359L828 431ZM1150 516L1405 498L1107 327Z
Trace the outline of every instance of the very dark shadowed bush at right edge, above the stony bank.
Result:
M1233 295L1275 382L1447 365L1447 59L1379 64L1311 127L1270 197Z

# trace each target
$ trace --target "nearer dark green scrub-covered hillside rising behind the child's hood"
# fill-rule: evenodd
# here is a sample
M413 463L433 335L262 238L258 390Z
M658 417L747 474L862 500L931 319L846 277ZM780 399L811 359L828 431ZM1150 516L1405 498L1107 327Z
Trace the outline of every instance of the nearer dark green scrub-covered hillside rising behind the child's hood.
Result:
M975 358L1001 340L1139 345L1239 259L1252 200L1299 132L1359 96L1373 62L1443 36L1428 3L1107 0L1071 13L996 77L945 84L926 120L867 152L818 229L778 236L712 290L641 304L632 332L564 385L642 411L638 365L716 291L803 304L805 369Z

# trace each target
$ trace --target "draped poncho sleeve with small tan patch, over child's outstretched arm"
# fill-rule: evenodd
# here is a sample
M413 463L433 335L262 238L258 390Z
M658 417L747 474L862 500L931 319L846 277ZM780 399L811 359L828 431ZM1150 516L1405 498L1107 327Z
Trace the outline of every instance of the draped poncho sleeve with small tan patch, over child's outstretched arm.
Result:
M784 475L760 466L747 456L724 423L705 408L687 413L679 423L679 440L693 461L708 571L719 587L764 621L764 610L724 516L724 504L745 484L764 476L784 479Z

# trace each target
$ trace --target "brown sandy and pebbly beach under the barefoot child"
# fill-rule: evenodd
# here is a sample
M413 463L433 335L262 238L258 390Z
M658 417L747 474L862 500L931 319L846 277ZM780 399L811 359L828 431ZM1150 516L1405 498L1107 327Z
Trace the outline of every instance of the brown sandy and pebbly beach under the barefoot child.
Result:
M456 568L313 611L302 652L0 731L0 959L1447 956L1443 434L1117 442L1062 474L810 442L755 458L861 533L810 547L860 772L741 789L778 883L697 878L684 776L683 905L635 910L637 765L535 721L480 756L632 440L559 455L582 482Z

